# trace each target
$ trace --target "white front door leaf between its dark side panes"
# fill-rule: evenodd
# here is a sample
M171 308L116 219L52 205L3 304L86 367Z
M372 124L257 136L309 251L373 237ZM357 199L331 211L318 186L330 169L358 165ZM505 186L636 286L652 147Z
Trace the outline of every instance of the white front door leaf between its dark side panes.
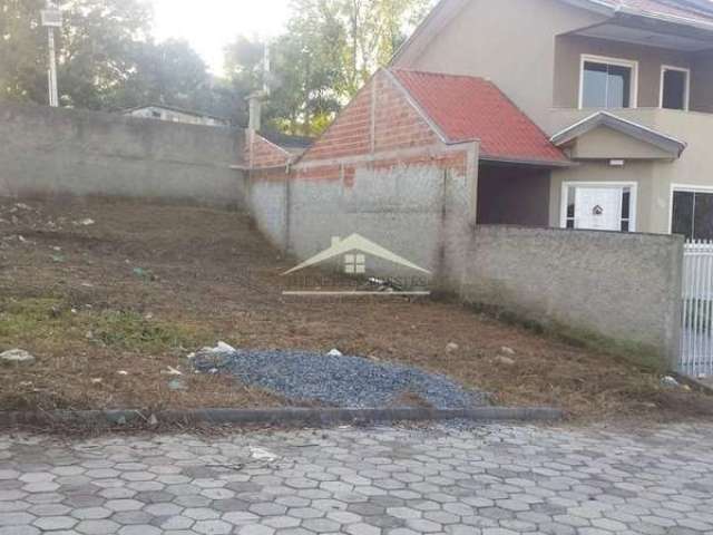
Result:
M575 228L622 230L621 187L577 187Z

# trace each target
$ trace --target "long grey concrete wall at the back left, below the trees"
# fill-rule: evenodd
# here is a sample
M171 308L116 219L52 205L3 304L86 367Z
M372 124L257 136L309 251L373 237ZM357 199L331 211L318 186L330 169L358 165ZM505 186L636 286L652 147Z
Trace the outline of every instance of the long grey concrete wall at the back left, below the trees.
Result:
M0 195L120 195L235 205L243 130L0 105Z

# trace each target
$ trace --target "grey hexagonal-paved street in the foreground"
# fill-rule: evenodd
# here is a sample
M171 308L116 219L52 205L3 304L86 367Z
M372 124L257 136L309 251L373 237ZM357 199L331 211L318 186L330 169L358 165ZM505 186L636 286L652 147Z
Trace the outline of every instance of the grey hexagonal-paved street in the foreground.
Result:
M704 424L0 435L0 535L707 534L711 444Z

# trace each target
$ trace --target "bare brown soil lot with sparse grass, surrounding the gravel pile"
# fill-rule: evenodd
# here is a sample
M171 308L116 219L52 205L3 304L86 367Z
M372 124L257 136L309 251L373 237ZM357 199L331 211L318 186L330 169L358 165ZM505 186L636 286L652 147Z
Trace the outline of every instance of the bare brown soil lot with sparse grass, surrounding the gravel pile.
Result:
M94 223L87 220L92 220ZM713 398L664 389L621 358L500 323L458 303L285 298L294 262L248 217L117 200L0 201L0 409L283 405L185 356L236 347L329 351L447 373L504 405L564 407L576 419L713 416ZM449 343L458 344L447 351ZM498 361L512 348L515 366ZM172 390L182 370L185 391Z

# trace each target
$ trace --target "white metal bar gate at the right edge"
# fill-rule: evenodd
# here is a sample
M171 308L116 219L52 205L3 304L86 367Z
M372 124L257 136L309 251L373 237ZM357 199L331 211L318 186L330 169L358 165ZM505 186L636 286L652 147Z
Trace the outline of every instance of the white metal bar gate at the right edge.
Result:
M686 243L680 371L713 376L713 241Z

